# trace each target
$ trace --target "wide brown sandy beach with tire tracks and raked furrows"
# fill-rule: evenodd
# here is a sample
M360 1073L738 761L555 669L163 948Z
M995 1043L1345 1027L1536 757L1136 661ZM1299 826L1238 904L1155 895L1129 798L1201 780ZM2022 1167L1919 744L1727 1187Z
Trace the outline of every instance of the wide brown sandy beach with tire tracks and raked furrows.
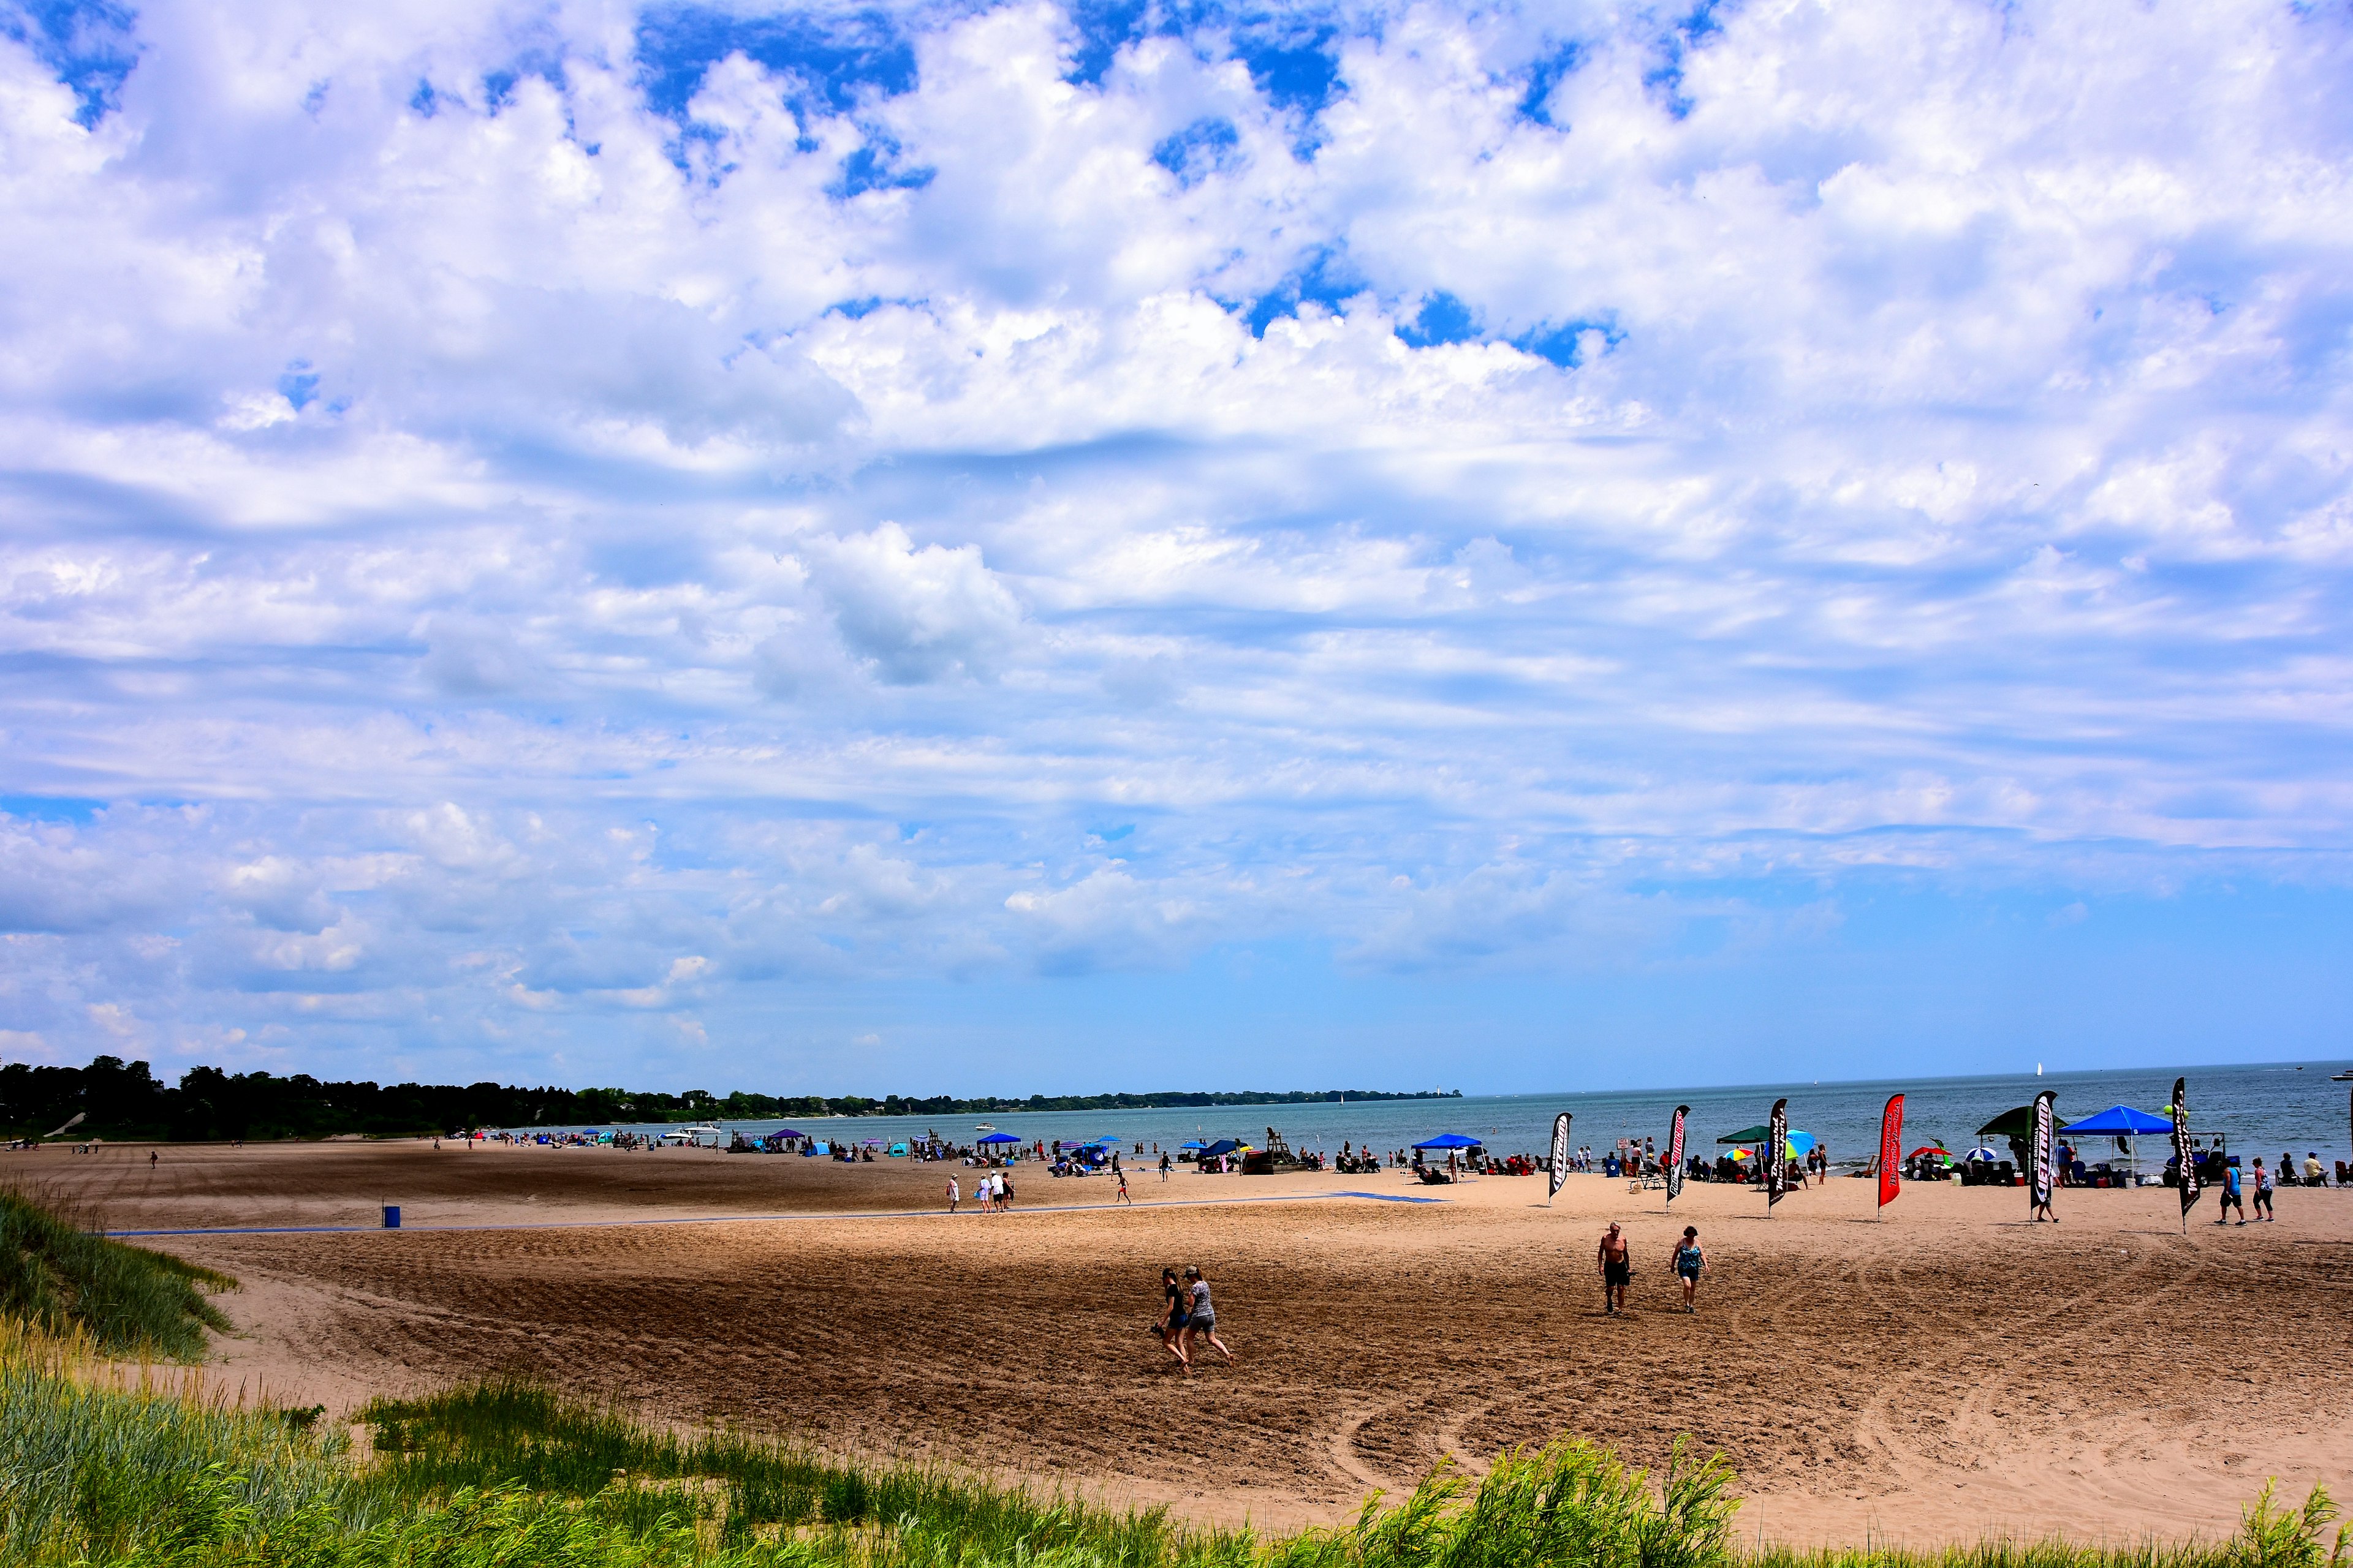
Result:
M673 1420L1038 1476L1200 1519L1329 1521L1440 1460L1678 1432L1741 1472L1744 1533L1791 1542L2217 1533L2280 1476L2353 1493L2353 1192L2181 1234L2172 1192L1920 1185L1873 1215L1833 1180L1398 1173L1104 1178L1016 1168L1012 1215L941 1213L960 1166L426 1143L120 1145L0 1157L0 1180L233 1272L224 1387L348 1410L527 1373ZM1402 1201L1435 1197L1440 1201ZM400 1232L372 1229L400 1204ZM758 1215L758 1218L748 1218ZM1635 1312L1602 1316L1621 1220ZM1701 1314L1666 1253L1699 1225ZM358 1227L282 1229L261 1227ZM1235 1366L1186 1380L1146 1333L1200 1262Z

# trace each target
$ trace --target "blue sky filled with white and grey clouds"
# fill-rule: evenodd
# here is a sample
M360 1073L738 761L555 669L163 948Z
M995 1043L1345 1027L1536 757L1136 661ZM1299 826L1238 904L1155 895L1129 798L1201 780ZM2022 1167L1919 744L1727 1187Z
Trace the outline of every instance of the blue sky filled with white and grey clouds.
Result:
M0 1060L2353 1056L2353 9L0 0Z

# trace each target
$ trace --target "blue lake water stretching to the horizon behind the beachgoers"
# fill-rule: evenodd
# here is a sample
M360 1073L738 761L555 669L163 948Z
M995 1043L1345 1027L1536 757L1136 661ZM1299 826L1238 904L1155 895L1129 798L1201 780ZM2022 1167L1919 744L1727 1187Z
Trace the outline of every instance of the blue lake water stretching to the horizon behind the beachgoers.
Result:
M1468 1133L1494 1154L1541 1154L1553 1117L1569 1112L1572 1143L1600 1154L1619 1138L1654 1138L1666 1145L1675 1105L1689 1105L1687 1145L1713 1150L1715 1138L1765 1121L1772 1103L1788 1095L1788 1124L1824 1140L1833 1164L1864 1164L1878 1152L1880 1107L1904 1093L1904 1147L1941 1140L1955 1154L1974 1147L1977 1128L2000 1112L2026 1105L2038 1091L2059 1093L2061 1117L2087 1117L2111 1105L2162 1114L2174 1079L2188 1077L2191 1124L2198 1133L2224 1133L2233 1152L2275 1159L2315 1150L2325 1164L2353 1157L2353 1084L2329 1074L2346 1063L2268 1063L2254 1067L2134 1067L2115 1072L2052 1072L2047 1077L1887 1079L1866 1084L1751 1084L1737 1088L1638 1088L1624 1093L1468 1095L1461 1100L1355 1100L1348 1105L1221 1105L1125 1112L993 1112L962 1117L791 1117L786 1121L720 1121L746 1138L791 1126L816 1138L885 1145L939 1133L948 1143L972 1143L988 1121L1024 1143L1056 1138L1080 1143L1115 1135L1129 1147L1172 1150L1188 1138L1240 1138L1264 1143L1273 1126L1292 1147L1339 1152L1341 1143L1402 1150L1435 1133ZM659 1124L626 1124L628 1131L661 1133ZM525 1128L518 1128L525 1131ZM529 1128L576 1131L576 1128ZM2113 1145L2087 1150L2094 1159ZM2141 1140L2141 1164L2165 1161L2155 1140ZM2332 1164L2334 1168L2334 1164Z

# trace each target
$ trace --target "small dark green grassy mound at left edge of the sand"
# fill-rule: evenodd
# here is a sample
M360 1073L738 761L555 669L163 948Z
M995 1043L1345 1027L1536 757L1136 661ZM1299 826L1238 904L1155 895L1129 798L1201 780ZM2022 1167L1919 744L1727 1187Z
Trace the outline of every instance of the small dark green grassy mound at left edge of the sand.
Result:
M87 1333L111 1354L193 1359L228 1328L205 1291L235 1286L165 1253L89 1234L73 1218L0 1187L0 1316L45 1333Z

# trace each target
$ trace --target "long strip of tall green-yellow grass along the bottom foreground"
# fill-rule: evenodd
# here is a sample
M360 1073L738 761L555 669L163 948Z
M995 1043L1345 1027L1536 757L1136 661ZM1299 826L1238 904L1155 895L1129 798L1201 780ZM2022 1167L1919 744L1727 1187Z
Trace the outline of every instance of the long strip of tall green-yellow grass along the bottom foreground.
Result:
M282 1410L120 1387L92 1342L0 1331L0 1561L28 1568L2353 1568L2337 1509L2271 1488L2238 1535L1944 1552L1744 1549L1732 1469L1581 1439L1440 1469L1341 1528L1259 1535L492 1382L376 1401L372 1462Z

